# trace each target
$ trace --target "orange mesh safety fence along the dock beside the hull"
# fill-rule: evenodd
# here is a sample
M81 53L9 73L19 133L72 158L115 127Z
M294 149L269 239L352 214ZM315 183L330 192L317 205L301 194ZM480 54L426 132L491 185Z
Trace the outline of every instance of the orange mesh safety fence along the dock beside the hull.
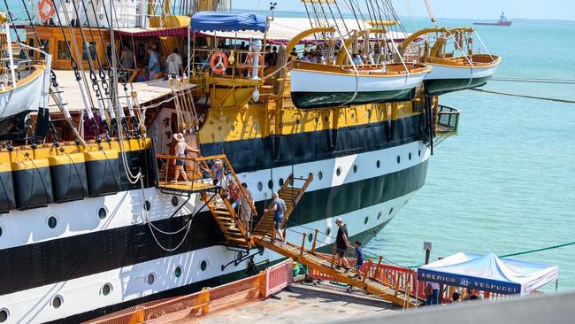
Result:
M289 258L260 274L194 294L165 298L112 312L84 323L136 324L189 322L214 312L261 300L293 282ZM286 269L290 271L286 271ZM268 279L271 284L268 284ZM281 287L281 288L279 288ZM272 289L272 290L268 290Z

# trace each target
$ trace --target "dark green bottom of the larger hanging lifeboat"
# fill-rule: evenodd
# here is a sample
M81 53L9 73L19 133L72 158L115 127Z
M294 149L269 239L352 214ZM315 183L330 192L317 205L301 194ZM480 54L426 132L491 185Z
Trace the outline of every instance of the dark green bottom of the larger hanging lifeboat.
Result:
M410 90L370 92L292 92L292 101L298 109L338 107L353 104L395 103L410 101L415 97L415 88Z

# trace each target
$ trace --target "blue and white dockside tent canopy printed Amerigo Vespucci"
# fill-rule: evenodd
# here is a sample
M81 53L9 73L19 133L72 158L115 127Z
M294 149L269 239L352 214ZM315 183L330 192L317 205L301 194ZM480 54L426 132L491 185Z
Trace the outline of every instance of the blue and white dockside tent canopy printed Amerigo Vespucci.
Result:
M559 267L459 252L418 268L418 280L498 294L527 294L559 277Z

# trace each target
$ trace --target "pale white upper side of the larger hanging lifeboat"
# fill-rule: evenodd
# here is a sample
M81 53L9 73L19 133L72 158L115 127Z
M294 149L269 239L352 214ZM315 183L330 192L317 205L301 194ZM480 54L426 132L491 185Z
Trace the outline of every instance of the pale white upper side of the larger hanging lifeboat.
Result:
M294 69L290 73L292 92L382 92L405 90L416 87L426 73L403 76L367 76L337 73L321 73Z

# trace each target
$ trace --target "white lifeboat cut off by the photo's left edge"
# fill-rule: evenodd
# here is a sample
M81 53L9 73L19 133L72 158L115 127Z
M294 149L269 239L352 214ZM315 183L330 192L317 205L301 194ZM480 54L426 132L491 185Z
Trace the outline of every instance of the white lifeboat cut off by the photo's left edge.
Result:
M45 65L32 66L26 77L12 85L0 85L0 119L35 111L42 96Z

